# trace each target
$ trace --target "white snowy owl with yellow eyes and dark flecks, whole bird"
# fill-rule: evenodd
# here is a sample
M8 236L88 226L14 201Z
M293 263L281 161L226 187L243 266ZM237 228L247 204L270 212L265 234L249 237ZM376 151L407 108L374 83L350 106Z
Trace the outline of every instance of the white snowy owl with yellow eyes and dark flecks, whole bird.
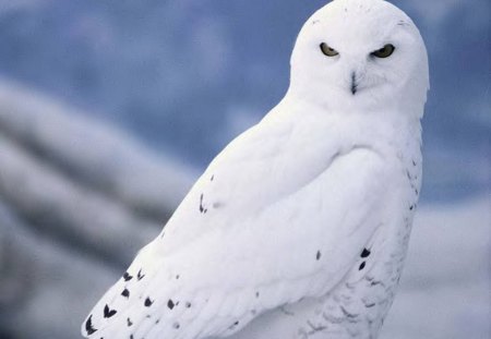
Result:
M303 25L290 86L82 324L87 338L376 338L421 183L423 40L383 0Z

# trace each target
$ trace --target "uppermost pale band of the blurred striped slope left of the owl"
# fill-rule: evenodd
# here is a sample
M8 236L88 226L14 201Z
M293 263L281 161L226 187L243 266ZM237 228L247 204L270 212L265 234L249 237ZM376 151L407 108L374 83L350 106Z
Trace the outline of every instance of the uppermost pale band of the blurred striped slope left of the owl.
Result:
M152 154L120 130L4 82L0 82L0 131L145 213L161 214L161 206L172 210L195 177L189 167Z

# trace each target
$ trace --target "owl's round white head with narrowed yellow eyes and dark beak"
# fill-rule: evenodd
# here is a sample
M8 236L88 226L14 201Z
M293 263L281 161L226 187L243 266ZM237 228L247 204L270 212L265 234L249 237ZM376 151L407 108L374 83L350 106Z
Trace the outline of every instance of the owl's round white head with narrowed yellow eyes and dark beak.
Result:
M331 107L424 101L424 44L412 21L385 1L334 0L300 32L291 86Z

